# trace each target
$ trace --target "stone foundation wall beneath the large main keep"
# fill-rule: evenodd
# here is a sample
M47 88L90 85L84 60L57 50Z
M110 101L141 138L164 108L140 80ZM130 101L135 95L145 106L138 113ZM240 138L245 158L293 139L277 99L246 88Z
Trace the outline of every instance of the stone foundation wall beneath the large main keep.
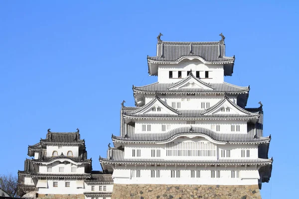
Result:
M111 199L261 199L258 185L122 185Z

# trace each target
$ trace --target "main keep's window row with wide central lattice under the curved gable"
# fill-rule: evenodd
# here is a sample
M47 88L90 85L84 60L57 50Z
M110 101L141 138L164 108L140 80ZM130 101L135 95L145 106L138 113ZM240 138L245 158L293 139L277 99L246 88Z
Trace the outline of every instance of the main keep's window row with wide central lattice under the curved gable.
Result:
M169 144L169 143L167 143ZM206 148L208 146L205 146ZM160 149L151 149L151 157L161 157L161 150ZM210 150L197 150L197 149L184 149L184 150L178 150L178 149L167 149L166 150L166 156L198 156L198 157L206 157L206 156L216 156L216 150L210 149ZM132 157L141 157L141 149L132 149ZM224 150L221 149L220 151L220 157L221 158L230 158L231 157L231 150ZM250 157L250 150L242 149L241 150L241 157L242 158L249 158ZM64 169L64 168L61 168ZM73 169L75 169L73 171ZM63 170L64 171L64 170ZM62 171L62 172L63 172ZM60 167L59 167L60 172ZM72 172L76 172L76 168L72 167Z

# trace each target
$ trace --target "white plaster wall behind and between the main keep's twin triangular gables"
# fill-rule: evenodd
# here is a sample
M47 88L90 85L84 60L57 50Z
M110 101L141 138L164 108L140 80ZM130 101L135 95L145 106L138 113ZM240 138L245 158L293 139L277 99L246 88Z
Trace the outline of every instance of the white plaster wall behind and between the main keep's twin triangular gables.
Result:
M160 96L159 98L165 101L169 106L172 105L172 102L180 102L181 107L178 109L203 109L201 108L201 102L210 102L210 107L215 105L217 102L223 99L224 95L217 96L216 94L213 95L197 95L195 96L187 96L187 94L179 94L179 95L168 95ZM145 98L145 103L149 103L150 100L154 99L154 95L147 95ZM237 103L237 96L229 96L229 99ZM176 108L176 107L175 107Z

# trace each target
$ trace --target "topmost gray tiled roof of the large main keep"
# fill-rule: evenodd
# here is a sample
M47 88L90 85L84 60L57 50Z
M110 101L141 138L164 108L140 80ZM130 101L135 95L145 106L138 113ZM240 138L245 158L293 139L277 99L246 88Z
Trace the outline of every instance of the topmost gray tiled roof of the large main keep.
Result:
M235 57L225 56L223 42L170 41L159 42L157 44L157 56L148 56L148 61L176 62L183 57L200 57L210 63L233 63L235 61Z

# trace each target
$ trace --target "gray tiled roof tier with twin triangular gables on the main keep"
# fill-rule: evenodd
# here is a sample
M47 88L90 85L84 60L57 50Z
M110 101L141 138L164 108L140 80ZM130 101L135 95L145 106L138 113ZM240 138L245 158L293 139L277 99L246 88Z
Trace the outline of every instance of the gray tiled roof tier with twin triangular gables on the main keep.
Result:
M170 109L171 111L177 113L177 114L167 114L167 113L143 113L143 114L138 114L139 112L149 108L156 100L159 100L163 105L165 105L166 108ZM232 118L232 119L242 119L242 118L247 118L247 119L253 119L253 118L258 118L260 116L259 112L250 112L247 111L238 105L232 103L230 100L228 100L234 107L236 107L238 110L246 113L245 115L240 115L240 114L228 114L228 113L215 113L215 114L206 114L216 107L218 107L220 104L222 104L225 100L227 100L227 97L225 96L222 100L217 102L215 105L211 106L208 109L204 110L182 110L182 109L174 109L167 105L164 101L160 100L159 97L155 96L153 100L150 100L149 103L145 104L144 106L138 107L134 109L133 111L130 109L123 109L123 116L128 116L128 117L133 117L133 118L197 118L197 119L204 119L204 118L213 118L213 119L227 119L227 118Z

